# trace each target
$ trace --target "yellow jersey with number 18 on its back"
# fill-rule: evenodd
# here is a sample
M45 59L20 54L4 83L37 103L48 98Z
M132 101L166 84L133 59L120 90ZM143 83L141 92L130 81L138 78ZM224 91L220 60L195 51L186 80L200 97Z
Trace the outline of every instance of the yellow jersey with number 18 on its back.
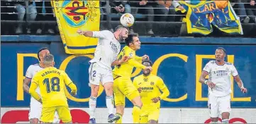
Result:
M30 94L36 97L36 94L33 94L33 90L39 87L43 107L68 106L64 89L65 85L71 84L73 84L72 80L70 80L65 71L54 67L45 68L40 70L33 77L30 86ZM72 90L74 90L74 88L72 88Z

